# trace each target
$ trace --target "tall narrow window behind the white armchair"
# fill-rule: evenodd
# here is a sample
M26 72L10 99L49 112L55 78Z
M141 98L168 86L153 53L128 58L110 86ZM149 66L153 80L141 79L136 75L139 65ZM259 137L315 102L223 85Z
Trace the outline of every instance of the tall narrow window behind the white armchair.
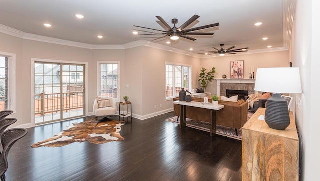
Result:
M99 63L99 95L109 96L115 99L118 98L118 75L119 64L118 63Z

